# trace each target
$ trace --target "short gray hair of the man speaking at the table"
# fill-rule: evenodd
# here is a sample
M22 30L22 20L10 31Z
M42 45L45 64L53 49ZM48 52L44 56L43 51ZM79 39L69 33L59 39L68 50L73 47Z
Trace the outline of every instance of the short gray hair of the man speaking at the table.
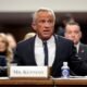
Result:
M51 9L48 9L48 8L40 8L40 9L38 9L38 10L34 13L34 15L33 15L33 22L36 21L37 14L38 14L39 12L50 12L50 13L53 15L53 18L54 18L54 21L55 21L54 12L53 12Z

